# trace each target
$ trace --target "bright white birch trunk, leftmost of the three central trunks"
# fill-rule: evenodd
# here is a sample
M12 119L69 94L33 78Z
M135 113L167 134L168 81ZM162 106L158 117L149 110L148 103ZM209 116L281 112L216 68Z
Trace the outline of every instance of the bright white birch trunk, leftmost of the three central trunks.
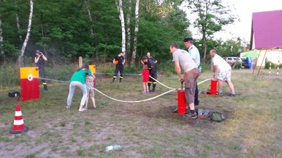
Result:
M118 0L118 12L119 19L121 20L121 51L125 53L125 24L124 24L124 15L123 15L123 1ZM124 54L126 56L126 53Z

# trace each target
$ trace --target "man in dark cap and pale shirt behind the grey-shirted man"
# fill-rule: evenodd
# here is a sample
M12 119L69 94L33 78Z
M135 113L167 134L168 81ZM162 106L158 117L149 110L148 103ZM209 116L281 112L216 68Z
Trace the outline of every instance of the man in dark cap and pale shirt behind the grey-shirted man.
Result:
M193 44L193 39L191 37L185 38L183 39L184 45L186 48L188 48L188 53L190 53L192 59L196 62L198 69L201 72L201 60L200 60L200 53L199 50L197 49L197 47L194 46ZM198 98L198 94L199 94L199 90L198 90L198 86L196 84L196 90L195 90L195 105L199 105L200 101Z

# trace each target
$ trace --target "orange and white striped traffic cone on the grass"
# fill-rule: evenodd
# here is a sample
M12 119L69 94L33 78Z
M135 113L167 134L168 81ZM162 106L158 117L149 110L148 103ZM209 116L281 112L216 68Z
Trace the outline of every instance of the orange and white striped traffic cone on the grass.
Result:
M15 119L13 121L13 129L11 129L10 133L16 134L16 133L23 133L27 131L28 131L28 127L25 126L25 124L23 123L23 116L22 116L22 112L20 111L20 105L17 104Z

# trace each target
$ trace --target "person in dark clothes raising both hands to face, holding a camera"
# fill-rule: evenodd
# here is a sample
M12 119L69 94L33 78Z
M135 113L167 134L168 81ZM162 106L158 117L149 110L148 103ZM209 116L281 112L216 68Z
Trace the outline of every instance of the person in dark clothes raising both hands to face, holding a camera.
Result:
M44 86L44 90L47 91L48 90L47 82L44 79L44 77L45 77L44 66L45 66L45 61L47 61L47 58L45 57L45 55L42 52L40 52L38 50L36 51L35 55L36 55L35 56L35 64L39 68L39 77L43 78L43 79L41 79L41 81L42 81L42 84Z

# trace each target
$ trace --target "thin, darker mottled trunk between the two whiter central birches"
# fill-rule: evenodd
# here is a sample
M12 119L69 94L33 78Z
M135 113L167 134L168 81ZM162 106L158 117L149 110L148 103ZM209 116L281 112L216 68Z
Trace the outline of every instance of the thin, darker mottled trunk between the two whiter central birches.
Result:
M126 43L126 61L130 62L130 43L131 43L131 34L130 34L130 15L131 15L131 0L128 1L128 13L126 15L126 34L128 41Z

